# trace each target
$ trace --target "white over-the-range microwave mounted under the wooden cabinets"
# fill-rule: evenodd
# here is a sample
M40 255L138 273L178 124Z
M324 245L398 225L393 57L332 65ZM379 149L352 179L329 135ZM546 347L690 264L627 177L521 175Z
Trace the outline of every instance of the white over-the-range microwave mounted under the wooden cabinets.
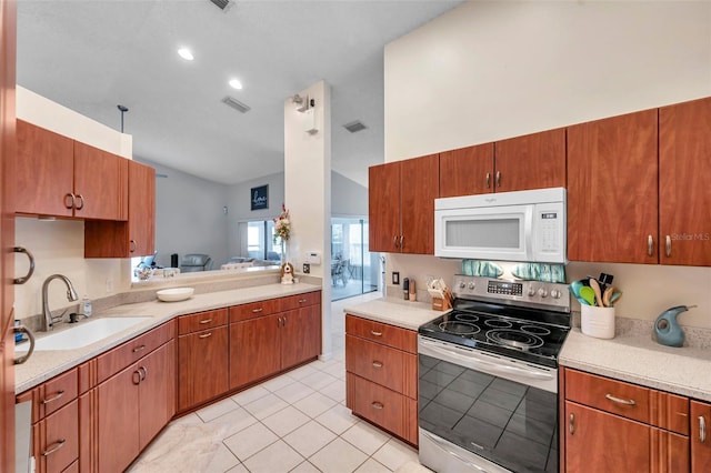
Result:
M434 200L434 255L565 263L565 189Z

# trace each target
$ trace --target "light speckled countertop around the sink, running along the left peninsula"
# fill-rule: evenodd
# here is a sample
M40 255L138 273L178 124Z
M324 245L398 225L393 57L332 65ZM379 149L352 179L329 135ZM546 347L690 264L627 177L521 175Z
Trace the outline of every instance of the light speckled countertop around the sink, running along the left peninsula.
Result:
M201 293L181 302L161 302L156 299L149 302L117 305L96 313L90 320L106 316L147 316L150 319L77 350L34 351L26 363L16 365L14 368L14 392L16 394L22 393L178 315L263 301L267 299L283 298L304 292L319 291L320 289L319 285L307 283L277 283ZM81 324L81 322L79 322L79 324ZM40 339L52 333L71 330L71 328L72 325L61 324L52 332L39 333L36 336Z

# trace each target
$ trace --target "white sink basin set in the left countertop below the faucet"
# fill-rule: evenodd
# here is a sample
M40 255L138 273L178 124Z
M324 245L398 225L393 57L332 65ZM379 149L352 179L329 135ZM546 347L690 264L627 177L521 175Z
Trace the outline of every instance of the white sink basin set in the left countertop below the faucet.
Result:
M124 316L79 322L71 329L47 336L38 336L34 342L34 351L81 349L149 319L148 316ZM14 350L26 352L29 349L29 343L22 343L17 345Z

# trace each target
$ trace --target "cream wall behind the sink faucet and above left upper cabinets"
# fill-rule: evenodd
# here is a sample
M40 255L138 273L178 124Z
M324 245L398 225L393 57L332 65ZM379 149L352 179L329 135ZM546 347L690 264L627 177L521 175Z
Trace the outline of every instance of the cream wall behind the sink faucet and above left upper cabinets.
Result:
M132 141L101 123L90 120L22 87L17 88L18 118L71 137L76 140L131 158ZM27 189L27 192L32 192ZM122 292L130 286L129 260L84 260L84 225L82 221L39 221L16 219L16 244L26 246L36 259L34 275L23 285L14 286L16 319L41 313L41 288L44 279L54 273L67 275L79 295L92 299ZM28 260L16 256L16 273L27 273ZM107 291L107 281L112 286ZM50 306L70 305L60 282L53 282L49 292Z

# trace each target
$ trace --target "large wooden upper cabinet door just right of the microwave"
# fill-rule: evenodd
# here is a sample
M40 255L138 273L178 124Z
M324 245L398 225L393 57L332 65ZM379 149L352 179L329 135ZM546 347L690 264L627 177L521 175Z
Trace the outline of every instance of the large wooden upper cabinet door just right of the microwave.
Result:
M657 168L657 110L568 128L570 260L658 262Z

